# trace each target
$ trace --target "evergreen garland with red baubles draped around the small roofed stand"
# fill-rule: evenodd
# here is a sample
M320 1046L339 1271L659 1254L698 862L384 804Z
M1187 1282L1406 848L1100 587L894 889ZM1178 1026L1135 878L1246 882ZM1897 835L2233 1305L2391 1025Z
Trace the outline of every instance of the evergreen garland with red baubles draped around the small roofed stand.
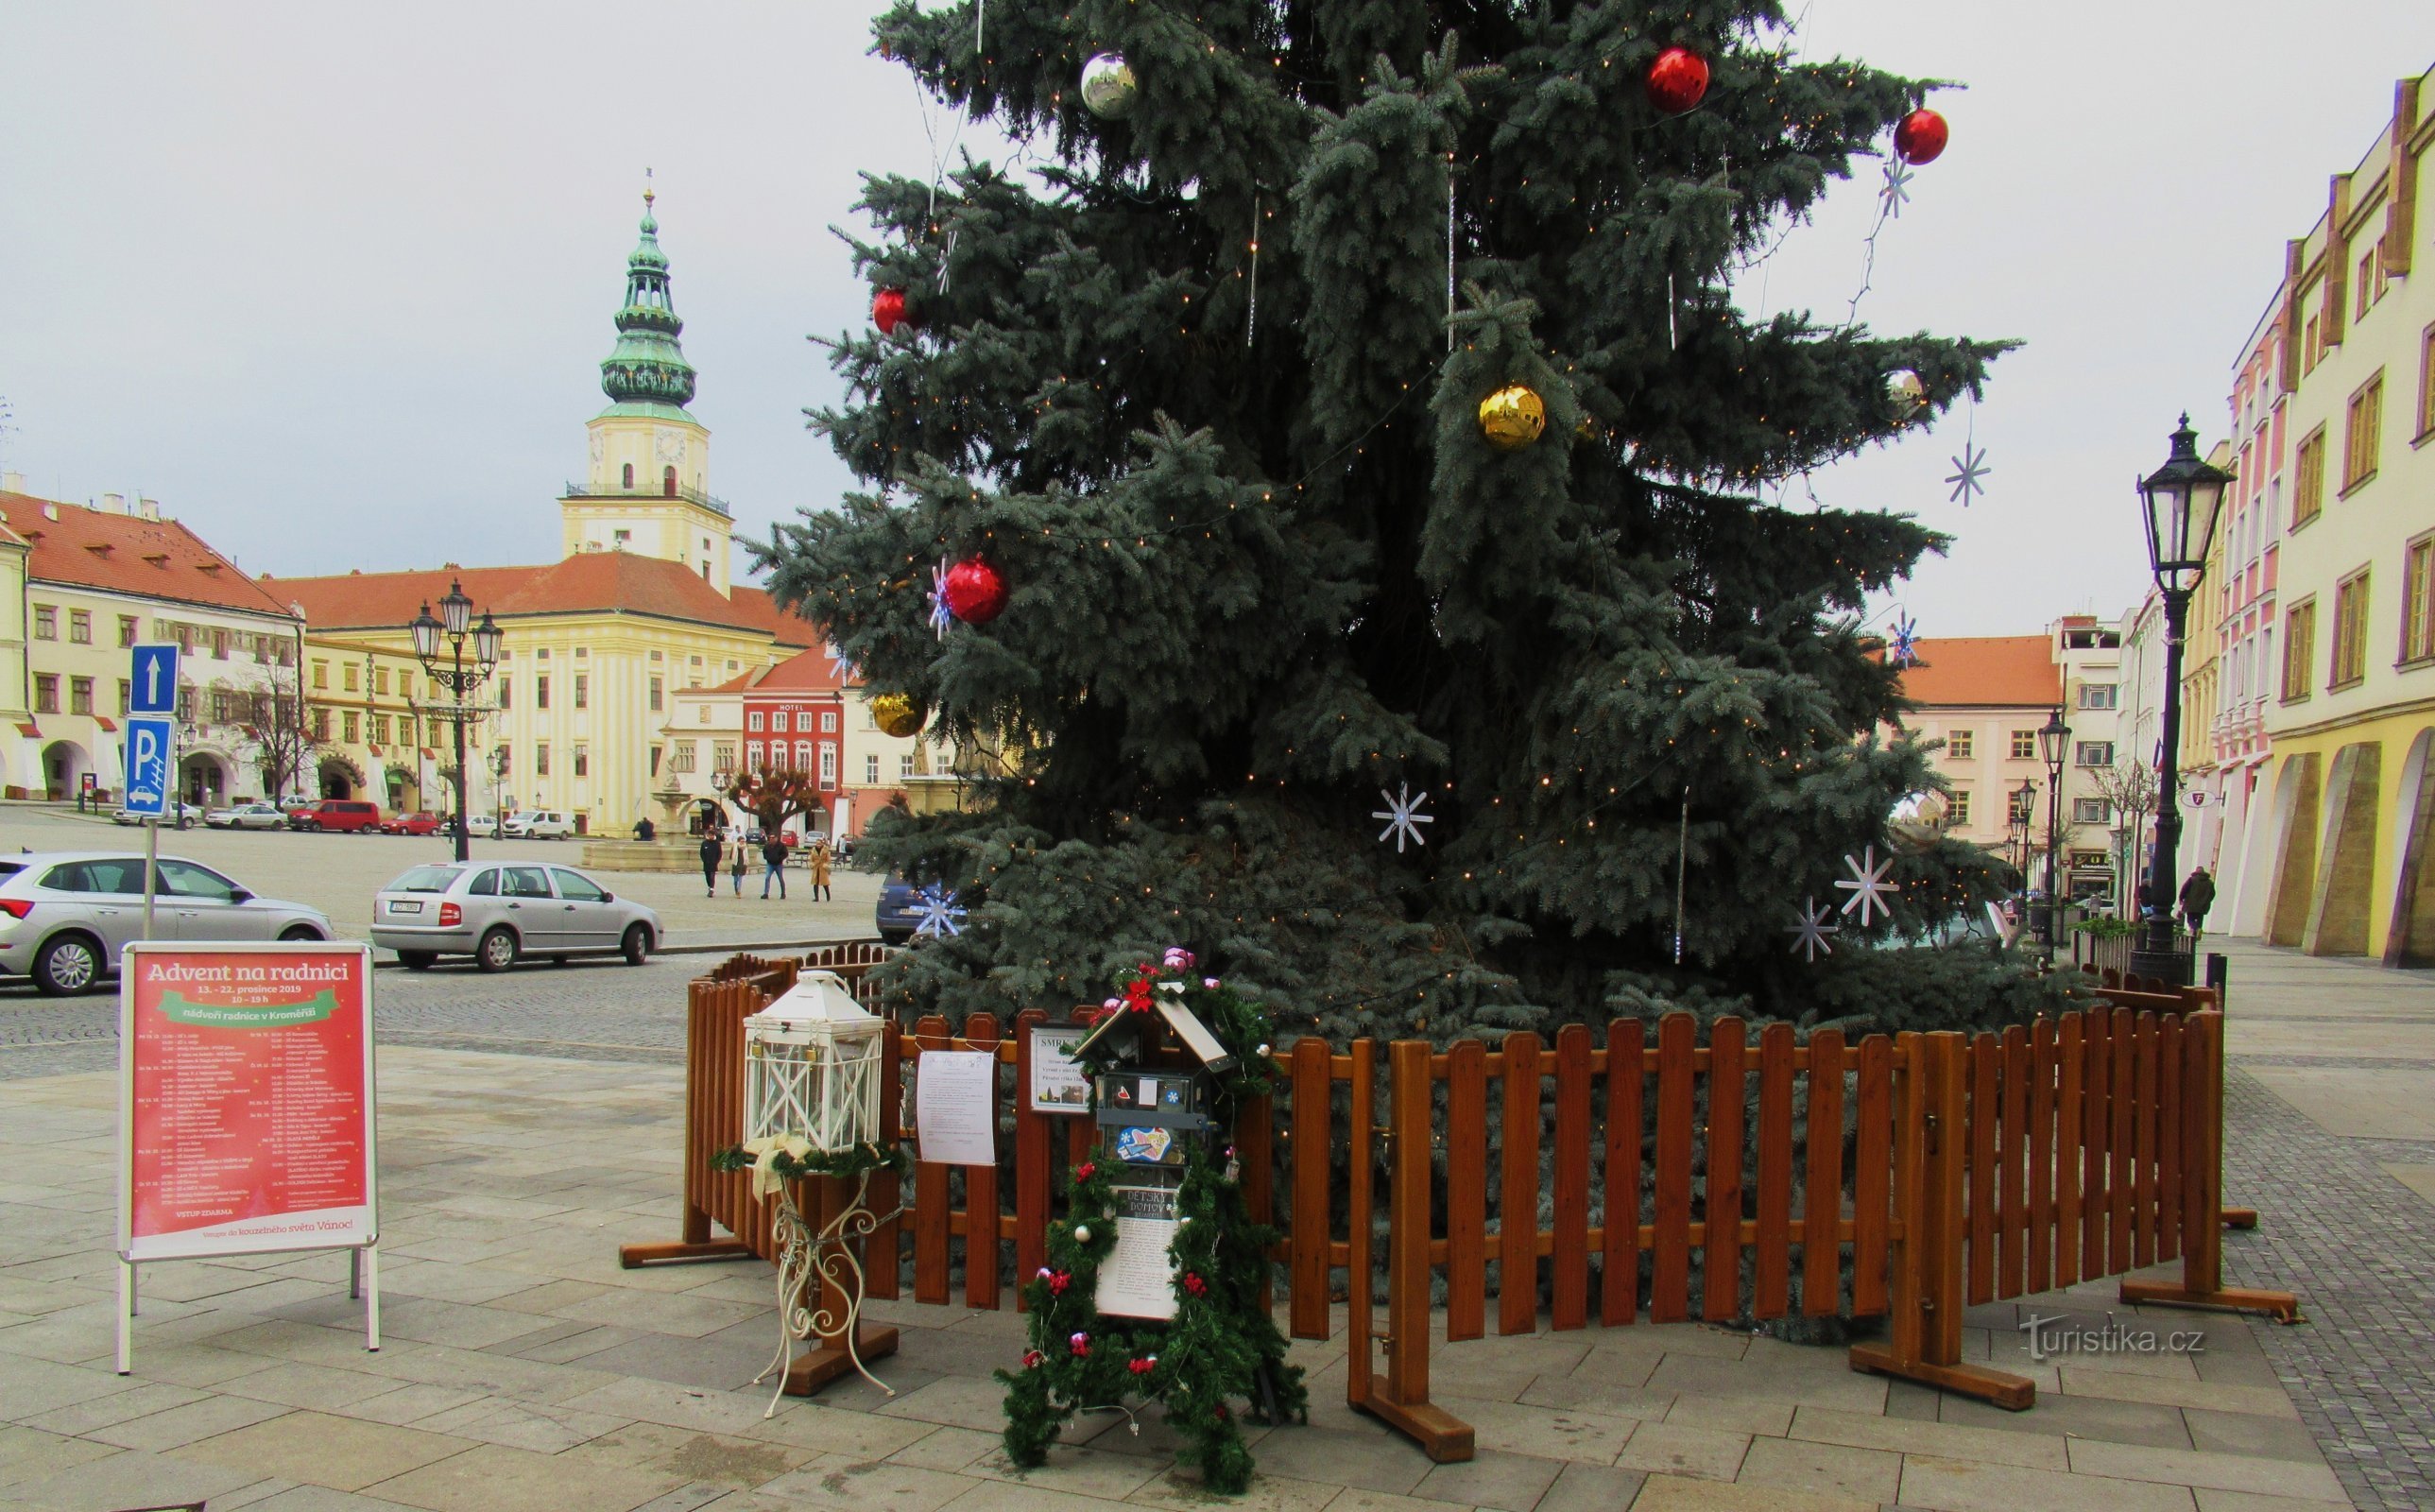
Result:
M1244 1098L1276 1086L1269 1064L1269 1015L1215 976L1191 976L1193 954L1169 950L1159 967L1142 962L1118 984L1103 1013L1152 1013L1152 991L1183 986L1183 1003L1225 1045L1235 1064L1210 1079L1210 1120L1235 1127ZM1096 1076L1115 1062L1103 1040L1081 1057ZM1254 1422L1308 1422L1300 1366L1286 1363L1286 1337L1261 1307L1269 1247L1278 1232L1254 1225L1242 1203L1232 1144L1213 1149L1186 1139L1183 1186L1169 1259L1176 1317L1101 1317L1098 1266L1115 1251L1115 1161L1084 1161L1067 1183L1067 1217L1049 1225L1047 1264L1025 1281L1032 1346L1006 1383L1006 1456L1018 1466L1047 1461L1057 1429L1076 1412L1120 1410L1130 1400L1159 1402L1186 1439L1183 1458L1200 1468L1208 1490L1239 1495L1252 1485L1252 1451L1242 1441L1235 1402Z

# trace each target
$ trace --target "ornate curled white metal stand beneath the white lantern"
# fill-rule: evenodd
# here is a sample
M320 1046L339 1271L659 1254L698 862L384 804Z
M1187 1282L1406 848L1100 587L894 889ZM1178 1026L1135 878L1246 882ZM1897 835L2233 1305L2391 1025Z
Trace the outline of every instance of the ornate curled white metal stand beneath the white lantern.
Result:
M796 1186L782 1186L769 1210L777 1239L777 1354L769 1368L752 1378L760 1385L772 1373L779 1378L769 1395L769 1412L777 1415L779 1398L808 1398L838 1376L855 1371L879 1390L896 1395L864 1361L896 1354L896 1329L862 1327L862 1254L860 1244L896 1213L872 1213L864 1195L872 1178L864 1171L852 1183L840 1176L821 1176L816 1213L825 1215L818 1230L796 1208ZM899 1210L901 1213L901 1210ZM818 1290L818 1300L813 1300ZM799 1342L818 1344L794 1354Z

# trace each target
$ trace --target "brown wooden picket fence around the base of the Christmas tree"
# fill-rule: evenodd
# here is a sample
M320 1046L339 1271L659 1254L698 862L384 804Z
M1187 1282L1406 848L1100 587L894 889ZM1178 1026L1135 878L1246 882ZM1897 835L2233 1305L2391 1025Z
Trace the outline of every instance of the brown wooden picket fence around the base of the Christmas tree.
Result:
M767 1251L767 1203L709 1157L740 1137L743 1015L791 981L794 962L738 957L692 984L682 1239L628 1244L623 1264ZM2179 1259L2179 1281L2123 1281L2123 1298L2296 1315L2289 1293L2221 1281L2221 1227L2240 1217L2221 1208L2223 1015L2204 989L2140 991L2160 986L2109 984L2087 1010L1975 1037L1799 1042L1724 1018L1702 1045L1678 1013L1614 1020L1602 1045L1583 1025L1495 1049L1303 1040L1278 1057L1281 1093L1237 1120L1244 1203L1281 1220L1288 1332L1325 1339L1342 1298L1349 1402L1432 1458L1471 1456L1468 1424L1429 1402L1439 1281L1449 1342L1488 1329L1490 1298L1500 1334L1534 1332L1541 1307L1554 1329L1882 1315L1853 1368L2028 1407L2026 1378L1960 1359L1965 1307ZM869 1295L901 1295L911 1271L916 1303L950 1303L959 1271L964 1307L1020 1307L1059 1161L1096 1139L1020 1096L1035 1023L889 1030L881 1137L913 1137L908 1062L976 1049L998 1059L1011 1139L998 1164L918 1164L911 1193L874 1178L869 1208L901 1213L862 1247ZM886 1346L864 1334L860 1351ZM843 1368L840 1349L813 1351L789 1390Z

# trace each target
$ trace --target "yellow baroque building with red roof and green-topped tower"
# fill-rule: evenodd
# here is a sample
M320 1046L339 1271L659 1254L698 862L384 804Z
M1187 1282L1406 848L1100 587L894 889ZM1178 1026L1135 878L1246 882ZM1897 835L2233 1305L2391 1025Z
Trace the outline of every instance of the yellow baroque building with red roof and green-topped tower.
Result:
M670 299L650 195L626 261L626 304L616 348L601 363L609 407L589 421L587 470L558 502L565 555L536 567L348 572L263 579L312 626L309 657L402 672L426 604L453 584L504 631L497 674L475 694L468 726L468 803L555 808L584 833L621 835L636 821L682 821L665 774L674 696L711 689L821 645L821 633L782 611L767 592L730 582L735 521L709 492L711 433L687 411L694 368L677 343L684 321ZM433 609L436 611L436 609ZM470 643L468 643L470 653ZM382 806L409 796L448 806L438 769L453 762L453 733L431 718L446 704L429 682L419 694L312 689L336 718L363 701L363 733L387 718L390 740L341 740L331 730L321 791L346 784ZM397 687L392 682L392 687ZM412 721L419 740L397 738Z

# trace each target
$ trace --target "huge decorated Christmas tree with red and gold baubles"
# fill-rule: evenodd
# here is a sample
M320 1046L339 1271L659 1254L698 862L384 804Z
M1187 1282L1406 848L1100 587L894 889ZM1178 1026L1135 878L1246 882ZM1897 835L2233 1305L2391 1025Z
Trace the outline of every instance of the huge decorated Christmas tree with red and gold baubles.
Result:
M1731 297L1836 180L1926 173L1929 85L1748 0L874 32L1015 144L867 180L872 329L813 414L867 487L769 543L896 726L993 752L874 828L962 908L891 991L1003 1018L1191 940L1288 1042L2036 1001L1892 947L2006 881L1887 825L1933 779L1863 611L1941 538L1773 487L2004 343Z

